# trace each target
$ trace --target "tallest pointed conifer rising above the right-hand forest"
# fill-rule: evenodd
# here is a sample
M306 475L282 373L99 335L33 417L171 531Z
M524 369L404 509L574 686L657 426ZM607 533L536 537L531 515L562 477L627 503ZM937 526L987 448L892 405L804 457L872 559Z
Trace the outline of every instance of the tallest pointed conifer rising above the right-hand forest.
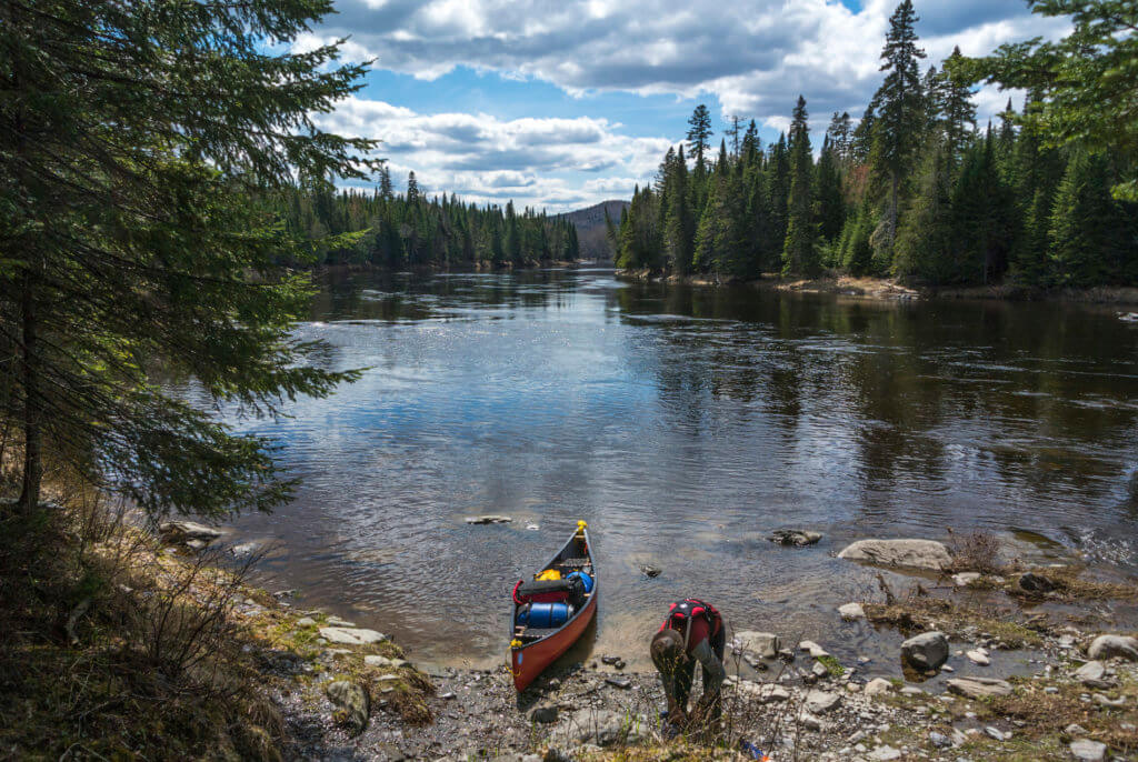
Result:
M916 44L916 20L912 0L902 0L890 17L881 51L881 71L888 74L875 97L881 106L873 129L871 160L888 187L881 240L889 256L897 232L901 183L912 171L925 125L925 97L917 66L925 53Z

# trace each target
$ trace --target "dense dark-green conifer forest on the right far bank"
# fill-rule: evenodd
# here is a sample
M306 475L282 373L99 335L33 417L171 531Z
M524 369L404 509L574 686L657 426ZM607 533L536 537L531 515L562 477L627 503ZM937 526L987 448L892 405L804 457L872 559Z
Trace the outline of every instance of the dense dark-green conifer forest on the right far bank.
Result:
M817 158L802 97L777 142L760 144L752 121L714 159L700 106L686 143L636 189L618 266L719 280L836 271L927 284L1138 283L1132 3L1034 10L1073 14L1075 31L979 60L956 49L922 72L918 19L901 2L880 89L857 123L833 115ZM996 124L978 125L981 80L1028 90L1023 113L1009 100Z

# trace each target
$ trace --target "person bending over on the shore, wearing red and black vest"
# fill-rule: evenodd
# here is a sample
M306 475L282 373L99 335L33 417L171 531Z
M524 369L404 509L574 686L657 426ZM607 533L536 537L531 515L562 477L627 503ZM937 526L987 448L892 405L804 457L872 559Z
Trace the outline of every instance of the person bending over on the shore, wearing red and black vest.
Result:
M720 688L726 677L724 647L727 632L723 616L710 604L686 598L671 604L649 651L660 672L668 699L667 721L671 734L695 732L711 740L719 731L723 714ZM694 710L687 701L695 680L695 663L703 668L703 695Z

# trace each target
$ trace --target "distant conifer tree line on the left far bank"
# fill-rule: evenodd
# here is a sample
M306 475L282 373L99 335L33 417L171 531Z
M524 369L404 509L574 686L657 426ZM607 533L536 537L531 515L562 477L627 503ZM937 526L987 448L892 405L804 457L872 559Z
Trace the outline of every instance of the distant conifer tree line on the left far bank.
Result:
M289 188L279 197L288 232L313 241L318 264L401 270L571 262L580 256L571 222L528 208L518 214L512 201L503 209L464 204L446 193L428 199L413 172L407 192L397 194L387 167L377 174L379 188L371 192ZM332 246L321 243L329 235L341 238Z

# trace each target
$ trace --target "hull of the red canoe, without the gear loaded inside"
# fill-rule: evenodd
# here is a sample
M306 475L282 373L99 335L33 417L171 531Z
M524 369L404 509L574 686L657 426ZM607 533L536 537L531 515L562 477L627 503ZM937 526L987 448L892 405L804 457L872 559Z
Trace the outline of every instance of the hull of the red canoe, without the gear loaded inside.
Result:
M568 621L555 629L517 624L521 602L518 599L518 588L514 588L513 616L510 618L510 669L513 671L513 685L519 691L525 690L546 666L569 651L570 646L580 638L588 623L593 621L593 616L596 614L596 596L600 587L593 569L587 524L584 521L578 521L577 531L572 533L569 541L553 556L550 563L542 568L543 572L556 570L562 575L579 571L593 579L592 590L584 594L584 603Z

